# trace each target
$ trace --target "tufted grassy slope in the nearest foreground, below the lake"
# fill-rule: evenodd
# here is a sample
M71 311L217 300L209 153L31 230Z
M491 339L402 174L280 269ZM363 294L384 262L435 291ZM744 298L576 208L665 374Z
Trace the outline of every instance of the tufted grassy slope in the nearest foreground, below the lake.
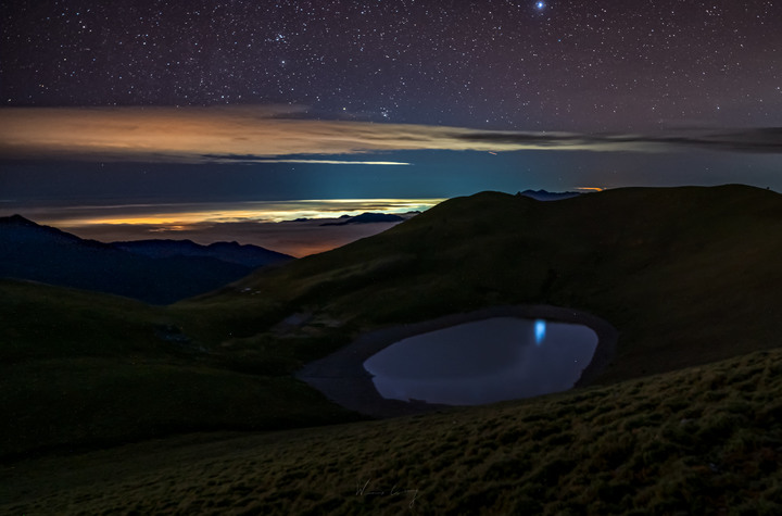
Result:
M427 416L30 461L0 468L0 513L780 514L780 400L782 351L756 352Z

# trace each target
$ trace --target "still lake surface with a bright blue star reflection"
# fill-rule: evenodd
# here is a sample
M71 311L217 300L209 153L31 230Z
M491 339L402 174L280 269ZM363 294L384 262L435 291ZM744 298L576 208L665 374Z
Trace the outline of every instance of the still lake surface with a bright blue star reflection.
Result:
M364 368L387 399L478 405L570 389L596 348L586 326L494 317L403 339Z

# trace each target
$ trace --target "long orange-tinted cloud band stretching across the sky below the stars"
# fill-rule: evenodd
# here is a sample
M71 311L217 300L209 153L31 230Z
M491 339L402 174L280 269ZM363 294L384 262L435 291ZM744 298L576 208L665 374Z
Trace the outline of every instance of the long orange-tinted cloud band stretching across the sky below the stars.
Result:
M302 119L304 112L304 108L289 106L7 108L0 110L0 155L185 163L404 165L406 163L393 161L301 156L400 150L658 152L688 147L782 152L782 128L588 135L313 121Z

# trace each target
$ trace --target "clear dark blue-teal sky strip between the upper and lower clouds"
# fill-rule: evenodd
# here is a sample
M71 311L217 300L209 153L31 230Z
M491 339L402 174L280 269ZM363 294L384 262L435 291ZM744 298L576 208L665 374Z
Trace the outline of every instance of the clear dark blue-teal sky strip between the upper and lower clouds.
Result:
M667 153L396 151L362 159L409 166L5 161L0 207L55 203L449 198L481 190L743 183L782 191L780 158ZM312 158L312 156L307 156ZM318 156L316 156L318 158ZM8 210L8 207L5 207Z

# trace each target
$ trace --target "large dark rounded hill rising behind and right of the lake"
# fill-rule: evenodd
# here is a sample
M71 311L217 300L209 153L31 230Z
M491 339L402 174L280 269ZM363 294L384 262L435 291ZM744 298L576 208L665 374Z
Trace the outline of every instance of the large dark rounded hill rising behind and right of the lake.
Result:
M590 312L620 332L600 381L780 344L782 196L744 186L638 188L557 202L484 192L381 235L180 303L213 342L277 342L499 304ZM267 344L268 345L268 344ZM323 349L323 352L328 351ZM260 358L258 358L260 360Z

